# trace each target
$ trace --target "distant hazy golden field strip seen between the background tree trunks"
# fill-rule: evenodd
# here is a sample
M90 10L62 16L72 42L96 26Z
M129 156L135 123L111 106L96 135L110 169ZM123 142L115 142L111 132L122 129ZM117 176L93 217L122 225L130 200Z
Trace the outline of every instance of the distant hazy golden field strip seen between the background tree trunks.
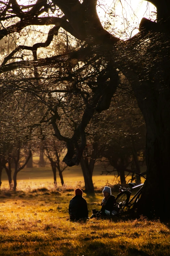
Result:
M114 173L111 175L100 175L102 173L102 167L100 165L96 165L93 172L93 183L95 187L103 187L107 183L115 184L118 183L116 180ZM145 169L141 170L145 171ZM128 174L128 173L127 173ZM126 174L126 175L127 175ZM117 175L117 173L116 173ZM71 186L73 188L83 187L84 179L81 171L80 165L67 167L63 172L64 183L66 186ZM128 181L131 178L129 175L126 180ZM60 178L57 173L57 186L61 186ZM3 170L2 172L2 185L1 189L7 189L9 187L7 181L7 174ZM34 168L24 168L17 175L17 189L24 190L27 188L40 188L47 187L51 189L54 187L53 185L53 174L51 167L48 165L47 167L34 167Z

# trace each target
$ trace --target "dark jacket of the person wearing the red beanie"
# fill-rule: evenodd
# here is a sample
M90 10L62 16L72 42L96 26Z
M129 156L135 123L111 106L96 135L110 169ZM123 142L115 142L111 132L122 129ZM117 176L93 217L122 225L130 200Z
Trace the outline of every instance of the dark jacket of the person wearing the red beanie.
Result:
M78 220L84 217L89 217L86 200L82 196L74 196L70 200L68 212L70 215L70 219Z

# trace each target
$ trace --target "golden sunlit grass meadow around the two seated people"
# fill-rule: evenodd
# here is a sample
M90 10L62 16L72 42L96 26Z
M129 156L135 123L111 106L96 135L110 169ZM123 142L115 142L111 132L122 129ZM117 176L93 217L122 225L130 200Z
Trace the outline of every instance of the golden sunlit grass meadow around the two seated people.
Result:
M114 175L94 171L95 196L86 195L89 215L100 209L102 188ZM3 173L0 193L0 255L170 255L170 224L131 216L70 222L68 205L83 188L79 167L64 173L65 186L54 187L50 168L19 173L17 191L8 190ZM114 181L115 182L115 181ZM117 193L113 193L115 196Z

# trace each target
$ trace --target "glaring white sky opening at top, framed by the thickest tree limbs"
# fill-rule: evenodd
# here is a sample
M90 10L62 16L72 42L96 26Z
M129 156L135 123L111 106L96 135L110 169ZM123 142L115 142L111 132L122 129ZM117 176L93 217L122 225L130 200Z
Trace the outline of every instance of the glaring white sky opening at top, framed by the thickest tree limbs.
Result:
M33 4L36 0L17 0L21 5ZM100 5L100 7L99 7ZM97 12L103 26L115 36L128 39L138 33L143 17L152 17L156 9L145 0L98 0ZM107 12L107 14L106 14Z

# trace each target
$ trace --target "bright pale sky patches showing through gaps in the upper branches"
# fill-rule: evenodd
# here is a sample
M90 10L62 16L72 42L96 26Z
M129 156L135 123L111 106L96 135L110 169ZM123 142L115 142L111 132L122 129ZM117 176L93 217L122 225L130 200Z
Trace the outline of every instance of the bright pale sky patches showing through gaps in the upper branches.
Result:
M17 0L19 5L31 5L35 4L36 0ZM27 9L25 9L27 11ZM99 0L97 12L99 18L102 22L102 25L113 35L119 37L120 39L126 40L138 33L138 27L141 19L146 17L151 20L155 20L155 7L145 0ZM42 15L47 16L47 13ZM57 15L56 13L50 13L50 16ZM7 24L6 24L7 26ZM3 46L2 51L4 52L2 56L8 55L8 53L15 49L16 45L28 45L32 46L35 43L45 42L47 39L47 34L51 26L30 26L27 33L27 29L22 29L20 34L16 33L15 40L8 37L5 37L1 40L1 45ZM11 41L11 43L9 41ZM46 49L38 49L38 52L41 52L41 55L45 54L51 56L51 47L53 43L57 43L60 40L58 37L53 40L50 44L50 50L47 47ZM14 43L15 41L15 43ZM7 43L8 42L8 43ZM77 41L70 41L72 45L76 44ZM10 44L10 47L8 46ZM0 55L0 62L3 61L3 57ZM31 55L32 56L32 55ZM41 56L42 57L42 56ZM44 56L45 57L45 56ZM25 59L26 57L24 57ZM29 56L27 58L30 58Z

